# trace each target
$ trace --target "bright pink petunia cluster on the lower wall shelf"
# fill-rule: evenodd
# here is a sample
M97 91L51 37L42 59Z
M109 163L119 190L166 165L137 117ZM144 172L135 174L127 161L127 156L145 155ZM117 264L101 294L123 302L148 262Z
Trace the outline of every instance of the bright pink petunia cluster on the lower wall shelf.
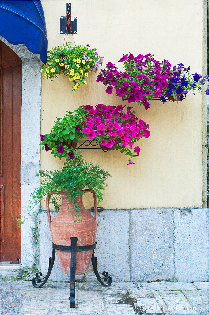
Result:
M125 107L125 106L124 106ZM89 138L98 141L101 146L112 148L115 146L116 150L126 152L130 158L139 156L139 146L132 146L140 138L148 138L150 135L149 125L143 120L135 116L135 111L131 111L133 107L128 107L123 112L122 105L106 106L105 104L98 104L94 109L91 105L79 107L76 112L85 118L81 121L83 125L82 132ZM84 114L84 115L83 115ZM129 148L126 146L129 145ZM130 161L128 164L134 164Z

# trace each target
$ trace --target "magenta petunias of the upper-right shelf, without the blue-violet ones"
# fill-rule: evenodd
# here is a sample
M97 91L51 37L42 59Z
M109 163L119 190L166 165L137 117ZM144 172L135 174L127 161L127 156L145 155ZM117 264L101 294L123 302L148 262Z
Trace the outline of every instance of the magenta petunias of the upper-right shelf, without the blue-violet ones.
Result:
M111 94L113 88L116 95L128 100L128 103L137 102L149 108L149 100L152 97L160 97L161 90L168 85L170 64L168 60L160 63L151 54L134 57L131 53L124 55L119 62L123 62L125 72L119 72L118 68L109 62L105 70L101 70L97 82L103 82L106 93Z

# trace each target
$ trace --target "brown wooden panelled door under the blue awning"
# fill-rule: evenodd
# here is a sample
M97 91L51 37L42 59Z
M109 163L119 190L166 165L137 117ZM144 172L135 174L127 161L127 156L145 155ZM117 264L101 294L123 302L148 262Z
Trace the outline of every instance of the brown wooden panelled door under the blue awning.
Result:
M0 122L0 208L1 261L19 263L20 138L22 104L22 60L0 41L1 122Z

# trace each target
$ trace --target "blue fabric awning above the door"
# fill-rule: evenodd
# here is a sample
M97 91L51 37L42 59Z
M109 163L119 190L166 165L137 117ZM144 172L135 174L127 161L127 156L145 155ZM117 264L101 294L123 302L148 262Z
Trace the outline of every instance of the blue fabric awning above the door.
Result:
M25 44L46 64L48 40L40 1L0 1L0 34L11 44Z

